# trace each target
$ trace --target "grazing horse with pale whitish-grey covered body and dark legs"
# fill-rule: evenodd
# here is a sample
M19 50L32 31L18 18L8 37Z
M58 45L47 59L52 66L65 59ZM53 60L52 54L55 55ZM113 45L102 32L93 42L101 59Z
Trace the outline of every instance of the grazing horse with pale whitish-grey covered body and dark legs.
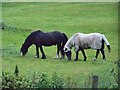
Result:
M87 57L85 55L84 49L95 49L97 50L96 56L94 57L94 61L96 61L99 52L101 51L103 60L106 60L105 53L104 53L104 42L107 45L107 48L110 52L110 44L107 38L100 33L90 33L90 34L83 34L83 33L76 33L74 34L65 44L64 51L68 52L71 51L72 47L74 47L74 51L76 52L75 61L78 60L78 52L81 50L84 56L84 61L86 61ZM71 60L71 54L67 55L68 60Z

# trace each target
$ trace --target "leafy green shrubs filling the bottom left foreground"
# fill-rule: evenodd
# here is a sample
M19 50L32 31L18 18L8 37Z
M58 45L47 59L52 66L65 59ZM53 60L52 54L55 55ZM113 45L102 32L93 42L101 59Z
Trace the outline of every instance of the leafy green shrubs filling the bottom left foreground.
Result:
M45 73L36 72L31 78L25 76L16 76L7 72L2 73L2 88L18 89L18 88L53 88L58 90L63 88L63 78L58 77L55 73L52 78L47 78Z

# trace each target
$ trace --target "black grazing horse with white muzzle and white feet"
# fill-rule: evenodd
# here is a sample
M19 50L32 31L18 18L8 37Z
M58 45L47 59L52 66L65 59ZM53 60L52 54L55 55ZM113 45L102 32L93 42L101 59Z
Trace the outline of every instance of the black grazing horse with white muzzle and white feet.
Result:
M64 58L65 52L63 51L63 47L67 42L68 38L66 34L61 33L59 31L53 32L42 32L41 30L37 30L32 32L25 40L22 45L20 52L21 56L24 56L28 52L28 48L34 44L36 46L36 55L35 57L39 58L39 48L42 53L41 59L45 59L46 55L43 51L42 46L52 46L57 45L57 54L56 58L59 58L59 51L61 51L61 58Z

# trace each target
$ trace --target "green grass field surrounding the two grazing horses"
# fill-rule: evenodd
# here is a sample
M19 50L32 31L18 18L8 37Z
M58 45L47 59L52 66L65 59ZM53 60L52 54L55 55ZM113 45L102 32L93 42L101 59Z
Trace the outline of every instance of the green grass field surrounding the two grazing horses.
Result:
M99 87L116 84L111 70L117 73L118 59L118 8L117 3L2 3L2 19L8 26L2 31L2 70L14 73L18 65L20 75L29 76L34 72L45 72L49 75L57 72L66 80L71 78L76 84L73 87L84 88L89 76L99 76ZM102 62L100 54L96 62L92 62L96 51L85 50L87 61L83 61L81 52L79 60L67 58L54 59L56 47L44 47L47 59L36 59L35 46L29 48L25 57L20 56L20 47L25 38L36 29L61 31L70 38L77 32L103 33L111 44L111 52L105 47L106 62ZM41 55L41 53L40 53ZM92 81L92 80L90 80ZM91 86L86 86L91 87Z

